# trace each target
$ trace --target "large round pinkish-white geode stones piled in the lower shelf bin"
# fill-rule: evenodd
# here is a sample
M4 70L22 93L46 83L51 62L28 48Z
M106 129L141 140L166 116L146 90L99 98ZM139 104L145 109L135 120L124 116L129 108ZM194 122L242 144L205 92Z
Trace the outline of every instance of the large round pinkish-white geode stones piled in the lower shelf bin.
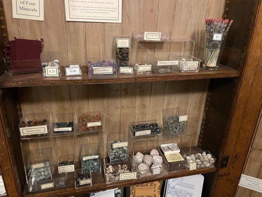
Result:
M143 155L140 152L137 152L134 155L133 159L138 167L138 172L144 176L150 176L154 174L154 171L150 169L156 169L163 167L163 157L159 155L158 150L153 149L150 152L150 155ZM141 162L141 158L143 158L143 163ZM161 172L161 169L157 172L158 174Z

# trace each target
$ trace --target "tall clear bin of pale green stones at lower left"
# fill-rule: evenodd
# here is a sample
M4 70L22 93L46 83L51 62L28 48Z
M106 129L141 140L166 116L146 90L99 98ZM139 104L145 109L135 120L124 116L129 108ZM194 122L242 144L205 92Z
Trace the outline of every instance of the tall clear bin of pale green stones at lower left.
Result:
M29 152L29 157L25 164L28 183L52 178L53 164L51 163L51 158L51 148L35 149Z

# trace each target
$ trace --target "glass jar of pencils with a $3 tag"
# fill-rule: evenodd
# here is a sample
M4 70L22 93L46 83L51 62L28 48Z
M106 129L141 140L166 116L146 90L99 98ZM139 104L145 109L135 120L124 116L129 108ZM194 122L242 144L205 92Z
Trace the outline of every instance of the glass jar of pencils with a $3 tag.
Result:
M205 48L203 68L216 70L233 20L205 19Z

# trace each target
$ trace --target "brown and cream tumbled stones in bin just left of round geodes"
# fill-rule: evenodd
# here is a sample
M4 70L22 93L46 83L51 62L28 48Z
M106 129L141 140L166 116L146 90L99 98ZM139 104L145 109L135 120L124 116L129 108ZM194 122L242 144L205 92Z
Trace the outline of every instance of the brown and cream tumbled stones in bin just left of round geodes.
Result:
M109 165L105 168L106 182L119 181L120 173L128 173L131 168L127 164Z

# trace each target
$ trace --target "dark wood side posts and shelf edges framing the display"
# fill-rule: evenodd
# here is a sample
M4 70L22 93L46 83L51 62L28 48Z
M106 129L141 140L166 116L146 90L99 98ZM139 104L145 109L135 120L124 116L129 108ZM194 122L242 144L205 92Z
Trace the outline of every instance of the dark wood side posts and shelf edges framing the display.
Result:
M235 11L232 6L237 5L236 7L240 7L242 9L246 9L243 5L241 5L244 0L231 0L228 2L227 7L228 10L225 12L228 17L238 17L239 11ZM255 3L254 3L255 5ZM253 6L253 4L252 4ZM253 7L252 7L253 8ZM246 29L243 32L248 32L251 28L251 36L250 36L250 45L248 47L247 53L237 54L237 57L241 57L238 60L231 60L227 57L227 54L230 54L230 48L235 48L235 43L228 43L230 46L225 49L224 57L222 58L222 63L232 67L234 69L241 71L240 78L231 78L238 77L239 73L236 70L231 70L232 73L216 73L214 74L196 74L196 75L174 75L174 76L163 76L161 77L152 77L150 79L146 77L129 77L124 79L112 79L112 81L108 79L90 81L88 79L77 80L77 81L68 81L66 79L62 80L59 85L64 84L96 84L96 83L121 83L121 82L141 82L141 81L163 81L163 80L184 80L184 79L211 79L209 86L209 94L206 100L205 106L205 115L201 128L200 138L198 145L203 149L210 150L217 157L217 168L218 170L215 173L208 173L205 177L204 184L204 196L233 196L237 183L242 171L242 167L244 165L244 161L247 155L247 151L250 145L250 141L252 139L253 131L256 126L257 118L259 115L259 111L262 103L262 83L261 83L261 73L262 73L262 7L261 1L257 2L257 7L254 6L255 10L258 10L255 19L250 21L250 24L255 24L254 30L251 27L245 27ZM231 11L232 10L232 11ZM252 10L250 7L249 11ZM250 14L250 13L249 13ZM252 19L251 19L252 20ZM249 25L249 24L248 24ZM245 31L247 30L247 31ZM235 36L235 34L231 35ZM247 37L249 33L246 35L239 35L240 37ZM243 45L244 48L245 45ZM245 51L243 51L245 52ZM247 55L247 58L245 58ZM246 61L244 61L246 59ZM239 63L242 61L242 65ZM237 66L237 64L241 66ZM201 72L200 72L201 73ZM214 72L215 73L215 72ZM217 79L223 78L223 79ZM12 111L19 111L16 109L16 88L20 86L39 86L43 85L43 80L40 79L40 82L32 82L29 79L24 80L23 83L17 80L15 82L6 81L6 76L3 75L0 77L1 84L1 100L0 100L0 166L2 169L2 175L4 178L7 190L7 194L10 197L20 197L23 196L22 189L20 188L20 183L17 177L17 167L15 160L20 160L21 158L14 158L15 155L19 153L13 153L13 149L11 148L10 141L16 141L18 139L13 138L12 136L7 136L6 130L10 130L11 126L14 122L10 121L10 117L12 117L12 121L18 121L18 114L12 114ZM48 85L58 85L59 82L48 82ZM13 88L6 88L13 87ZM230 93L226 94L225 92ZM5 94L6 96L2 96ZM9 98L13 98L7 100L7 96ZM5 110L7 107L10 107L12 110ZM7 118L8 117L8 118ZM14 124L15 125L15 124ZM217 149L220 147L220 149ZM220 167L221 161L223 157L229 156L229 162L227 167ZM146 181L152 180L163 180L172 177L185 176L195 173L205 173L205 172L213 172L215 168L212 170L199 170L195 172L186 172L183 174L172 174L169 173L166 176L155 177L155 179L145 179L143 181L126 181L122 184L117 185L107 185L102 186L103 189L110 189L115 187L124 187L132 184L142 183ZM101 188L99 188L101 190ZM95 191L95 188L90 188L90 190L80 191L80 193ZM61 190L50 192L44 196L68 196L72 195L75 190L68 190L68 193L61 193ZM43 196L43 193L39 195L33 196ZM31 194L24 196L32 196Z

